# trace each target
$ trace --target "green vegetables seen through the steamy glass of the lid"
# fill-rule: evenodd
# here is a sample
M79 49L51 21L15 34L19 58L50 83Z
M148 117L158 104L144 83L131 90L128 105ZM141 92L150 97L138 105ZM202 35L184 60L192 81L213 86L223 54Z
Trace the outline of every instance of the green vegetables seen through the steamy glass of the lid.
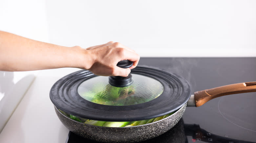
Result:
M140 92L136 92L136 90L137 88L133 85L127 87L114 87L110 84L107 84L105 87L95 85L94 88L80 95L90 102L113 106L145 103L157 98L160 95L151 93L153 90L145 90L142 92L142 96L138 96ZM157 95L157 97L146 95Z

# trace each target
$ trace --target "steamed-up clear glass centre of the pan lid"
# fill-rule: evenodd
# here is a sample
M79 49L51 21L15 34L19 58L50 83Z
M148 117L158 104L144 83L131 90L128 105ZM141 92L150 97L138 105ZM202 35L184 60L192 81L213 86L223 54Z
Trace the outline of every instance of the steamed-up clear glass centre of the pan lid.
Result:
M162 94L163 86L158 80L134 73L132 76L133 83L127 87L114 87L107 76L96 76L84 81L77 92L90 102L113 106L145 103Z

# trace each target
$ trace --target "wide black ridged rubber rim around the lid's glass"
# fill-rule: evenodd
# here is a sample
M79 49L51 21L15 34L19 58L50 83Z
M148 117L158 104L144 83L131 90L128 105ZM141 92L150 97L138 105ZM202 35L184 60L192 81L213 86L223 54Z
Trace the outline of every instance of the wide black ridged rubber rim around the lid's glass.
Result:
M50 99L62 111L85 119L102 121L137 121L160 117L181 108L191 96L188 82L181 76L149 67L137 66L131 74L140 74L158 80L163 93L146 103L111 106L83 99L77 92L79 85L97 75L81 70L59 79L50 90Z

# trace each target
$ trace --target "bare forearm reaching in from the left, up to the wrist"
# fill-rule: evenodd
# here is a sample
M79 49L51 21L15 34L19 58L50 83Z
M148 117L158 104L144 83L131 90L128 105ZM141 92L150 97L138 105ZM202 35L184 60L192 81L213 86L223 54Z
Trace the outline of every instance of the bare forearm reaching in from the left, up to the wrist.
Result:
M58 46L0 31L0 71L31 71L63 67L88 69L91 58L87 52L88 50L78 46Z

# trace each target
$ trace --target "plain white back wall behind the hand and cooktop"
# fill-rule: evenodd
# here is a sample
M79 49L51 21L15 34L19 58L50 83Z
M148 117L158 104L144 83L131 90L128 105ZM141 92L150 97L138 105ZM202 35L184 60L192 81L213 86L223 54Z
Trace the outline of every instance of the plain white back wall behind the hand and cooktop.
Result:
M255 0L46 0L50 42L141 56L256 56Z

